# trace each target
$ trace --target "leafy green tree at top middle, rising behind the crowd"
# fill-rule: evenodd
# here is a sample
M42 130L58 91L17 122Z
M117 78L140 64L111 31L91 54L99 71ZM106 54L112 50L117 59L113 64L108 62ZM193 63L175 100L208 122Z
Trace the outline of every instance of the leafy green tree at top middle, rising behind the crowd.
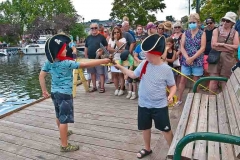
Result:
M114 0L110 13L112 19L122 20L124 16L129 17L130 23L145 25L149 21L156 21L159 10L166 8L164 0ZM153 13L154 12L154 13Z

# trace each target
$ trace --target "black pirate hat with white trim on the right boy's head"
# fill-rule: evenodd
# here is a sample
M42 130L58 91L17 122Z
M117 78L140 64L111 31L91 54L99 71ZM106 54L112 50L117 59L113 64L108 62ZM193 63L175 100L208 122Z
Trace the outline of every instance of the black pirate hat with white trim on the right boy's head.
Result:
M145 38L141 44L142 51L159 54L163 54L165 50L165 37L153 34Z

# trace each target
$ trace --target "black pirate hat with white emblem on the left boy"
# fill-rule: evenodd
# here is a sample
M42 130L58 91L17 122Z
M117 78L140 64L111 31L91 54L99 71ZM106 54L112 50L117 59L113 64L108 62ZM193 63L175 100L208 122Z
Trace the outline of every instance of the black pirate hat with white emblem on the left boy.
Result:
M45 54L47 59L53 63L57 54L64 45L68 45L71 42L70 37L64 34L54 35L52 38L49 38L45 44Z

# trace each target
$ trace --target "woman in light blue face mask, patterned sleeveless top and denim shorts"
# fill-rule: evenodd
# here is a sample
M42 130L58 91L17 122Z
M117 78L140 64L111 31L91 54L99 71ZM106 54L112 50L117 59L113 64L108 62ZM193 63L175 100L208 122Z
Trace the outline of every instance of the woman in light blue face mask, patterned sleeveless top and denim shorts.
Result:
M189 30L187 30L181 39L181 72L186 76L193 75L196 81L203 75L203 52L206 47L206 34L199 29L200 17L197 13L193 13L188 19ZM182 95L185 89L187 78L181 76L179 83L179 101L176 105L182 103Z

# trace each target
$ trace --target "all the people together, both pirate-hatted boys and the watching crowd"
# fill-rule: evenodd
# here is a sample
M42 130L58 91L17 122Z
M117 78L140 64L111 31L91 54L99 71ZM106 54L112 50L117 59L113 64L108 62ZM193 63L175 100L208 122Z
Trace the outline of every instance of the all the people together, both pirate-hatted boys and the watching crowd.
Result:
M193 13L189 16L187 30L183 30L181 22L149 22L146 25L147 32L144 32L145 27L138 25L136 33L130 30L127 17L123 18L122 24L113 27L112 31L92 23L90 35L85 40L84 52L86 58L97 60L82 63L66 56L71 42L69 37L53 36L45 46L48 61L42 67L39 80L43 96L48 97L45 77L47 73L52 75L51 98L60 130L60 151L79 149L78 145L71 145L67 140L67 137L73 134L68 130L68 123L74 123L72 70L87 68L91 75L89 82L92 82L90 92L104 93L105 80L110 78L107 77L108 68L100 64L109 62L114 64L109 68L115 86L113 94L122 96L125 86L128 86L126 98L136 99L138 96L138 129L143 134L144 149L137 153L137 158L141 159L152 153L150 144L153 120L155 128L162 131L168 145L171 145L173 133L168 104L173 102L177 88L179 101L176 105L182 103L182 94L187 82L187 79L178 73L193 76L194 80L204 75L229 78L237 60L235 53L239 46L236 19L235 13L227 12L221 18L220 26L216 28L215 20L208 17L205 20L206 28L203 29L199 15ZM113 56L113 60L101 59L105 50L101 46ZM219 57L212 57L216 52L221 53L218 54ZM128 65L123 65L124 62ZM125 85L125 82L128 85ZM222 87L224 86L222 83ZM217 87L217 82L210 81L211 90L214 91ZM168 95L166 88L169 90Z

